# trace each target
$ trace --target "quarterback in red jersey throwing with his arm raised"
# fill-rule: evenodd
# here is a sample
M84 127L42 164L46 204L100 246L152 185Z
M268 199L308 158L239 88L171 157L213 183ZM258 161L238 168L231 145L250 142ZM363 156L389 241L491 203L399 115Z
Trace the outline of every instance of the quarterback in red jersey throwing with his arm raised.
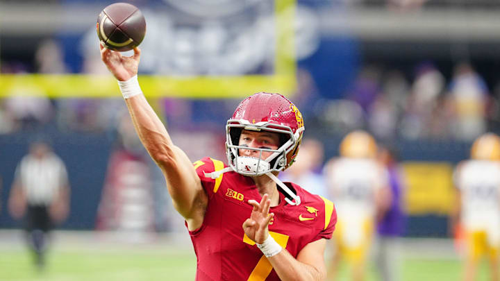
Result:
M142 144L163 171L197 255L196 280L324 280L337 215L331 201L281 182L299 151L303 120L280 94L244 99L226 124L228 167L197 162L172 143L137 80L131 57L101 45Z

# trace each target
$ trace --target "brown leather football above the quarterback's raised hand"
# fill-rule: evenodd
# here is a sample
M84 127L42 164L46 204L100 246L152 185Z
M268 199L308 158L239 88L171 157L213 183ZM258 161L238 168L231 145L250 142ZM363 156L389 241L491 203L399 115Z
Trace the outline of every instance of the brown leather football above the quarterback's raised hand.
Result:
M146 35L146 20L142 12L129 3L114 3L97 17L97 36L108 49L128 51Z

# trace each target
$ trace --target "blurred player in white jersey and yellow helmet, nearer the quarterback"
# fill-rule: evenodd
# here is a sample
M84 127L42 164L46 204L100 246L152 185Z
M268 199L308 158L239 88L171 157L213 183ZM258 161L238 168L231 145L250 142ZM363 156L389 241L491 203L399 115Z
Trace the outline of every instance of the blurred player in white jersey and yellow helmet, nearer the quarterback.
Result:
M329 280L346 259L351 280L364 280L374 226L390 204L387 171L376 160L377 146L368 133L356 130L340 144L340 157L328 162L326 180L337 207L334 258Z

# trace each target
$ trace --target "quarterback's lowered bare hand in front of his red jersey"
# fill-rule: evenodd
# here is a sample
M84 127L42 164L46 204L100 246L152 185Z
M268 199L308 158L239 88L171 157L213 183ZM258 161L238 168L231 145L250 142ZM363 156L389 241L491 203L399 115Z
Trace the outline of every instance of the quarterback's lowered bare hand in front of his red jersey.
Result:
M249 219L244 221L243 230L245 234L257 244L263 244L269 236L267 225L272 220L274 214L269 214L271 200L267 194L264 194L260 203L255 200L249 200L248 203L253 206Z

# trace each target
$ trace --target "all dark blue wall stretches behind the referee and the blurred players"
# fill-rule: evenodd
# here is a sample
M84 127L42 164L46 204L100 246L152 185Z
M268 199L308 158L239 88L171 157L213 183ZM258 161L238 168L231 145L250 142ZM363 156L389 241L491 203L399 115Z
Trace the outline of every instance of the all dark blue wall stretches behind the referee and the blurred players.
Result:
M26 154L33 135L36 134L0 135L0 176L3 178L3 190L0 194L0 228L22 228L22 222L12 220L6 206L15 167ZM51 144L67 165L72 186L71 213L59 228L93 230L115 136L90 133L51 135ZM338 155L338 144L341 139L339 136L317 130L309 130L308 135L314 135L324 141L326 160ZM447 162L451 167L468 156L470 146L465 142L422 140L410 142L401 139L395 140L394 144L399 151L401 162ZM447 235L447 215L432 213L410 215L405 235L444 237Z

